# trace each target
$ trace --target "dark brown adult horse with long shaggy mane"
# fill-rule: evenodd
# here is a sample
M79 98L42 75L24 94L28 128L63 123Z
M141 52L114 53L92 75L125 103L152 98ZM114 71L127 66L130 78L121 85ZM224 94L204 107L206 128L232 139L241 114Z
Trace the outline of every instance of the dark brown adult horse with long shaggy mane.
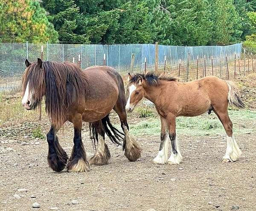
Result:
M46 111L52 123L47 134L47 158L53 170L62 171L67 164L67 171L89 171L90 165L108 163L110 153L105 144L105 132L117 144L122 137L109 121L108 114L112 109L118 114L125 135L125 156L130 161L140 157L141 148L129 134L125 88L118 72L108 66L82 71L76 64L42 62L41 59L32 64L28 60L25 63L22 103L27 110L35 109L45 96ZM69 160L56 136L66 121L74 125L74 146ZM81 140L82 121L91 123L98 140L96 153L89 163Z

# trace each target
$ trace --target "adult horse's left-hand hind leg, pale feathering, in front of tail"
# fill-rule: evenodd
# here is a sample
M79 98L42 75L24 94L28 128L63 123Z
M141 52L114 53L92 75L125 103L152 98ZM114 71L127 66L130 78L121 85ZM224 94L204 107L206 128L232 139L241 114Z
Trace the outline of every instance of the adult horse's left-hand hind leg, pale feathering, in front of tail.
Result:
M89 160L90 165L105 165L108 164L110 159L110 152L108 145L105 143L105 131L102 125L102 121L93 122L93 127L96 128L98 145L97 150L92 158Z

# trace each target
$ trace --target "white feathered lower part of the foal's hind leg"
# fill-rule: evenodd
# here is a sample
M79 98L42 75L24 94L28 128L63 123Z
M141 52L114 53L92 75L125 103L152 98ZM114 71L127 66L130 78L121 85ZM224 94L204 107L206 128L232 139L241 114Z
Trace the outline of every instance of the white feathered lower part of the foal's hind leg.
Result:
M239 146L236 143L234 137L227 136L227 149L223 159L228 159L230 162L236 161L242 154Z

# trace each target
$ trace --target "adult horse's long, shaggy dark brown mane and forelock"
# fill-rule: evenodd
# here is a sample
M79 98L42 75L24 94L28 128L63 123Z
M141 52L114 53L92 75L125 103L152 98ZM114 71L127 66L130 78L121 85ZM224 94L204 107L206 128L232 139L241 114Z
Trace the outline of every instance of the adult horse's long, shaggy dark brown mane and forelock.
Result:
M72 97L85 97L90 88L82 69L73 63L42 62L40 68L38 62L34 62L23 74L23 94L28 82L36 105L45 95L46 111L56 125L66 120Z

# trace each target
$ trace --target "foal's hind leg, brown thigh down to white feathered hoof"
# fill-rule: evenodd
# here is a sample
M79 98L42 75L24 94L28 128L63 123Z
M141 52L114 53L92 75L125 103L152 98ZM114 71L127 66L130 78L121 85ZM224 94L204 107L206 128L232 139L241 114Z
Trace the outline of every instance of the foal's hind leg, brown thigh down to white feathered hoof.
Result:
M227 149L222 161L225 163L236 161L241 155L241 150L233 137L233 124L228 116L227 108L214 108L213 111L227 133Z

